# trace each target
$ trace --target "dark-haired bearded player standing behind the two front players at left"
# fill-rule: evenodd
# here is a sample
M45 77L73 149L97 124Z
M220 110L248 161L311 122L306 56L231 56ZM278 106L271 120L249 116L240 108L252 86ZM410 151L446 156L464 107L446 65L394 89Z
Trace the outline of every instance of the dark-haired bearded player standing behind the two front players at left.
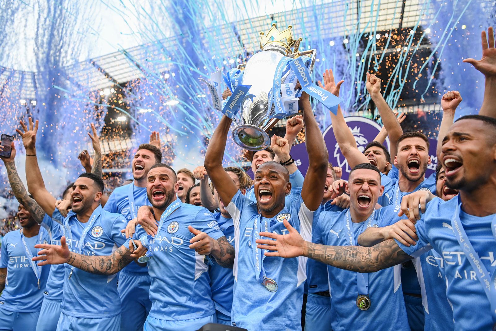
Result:
M133 182L116 188L104 210L122 214L127 221L136 218L139 207L150 205L146 196L146 176L150 168L162 162L162 152L156 146L144 143L138 146L131 161ZM131 262L118 275L121 297L121 330L140 330L150 312L148 296L151 278L146 265Z

